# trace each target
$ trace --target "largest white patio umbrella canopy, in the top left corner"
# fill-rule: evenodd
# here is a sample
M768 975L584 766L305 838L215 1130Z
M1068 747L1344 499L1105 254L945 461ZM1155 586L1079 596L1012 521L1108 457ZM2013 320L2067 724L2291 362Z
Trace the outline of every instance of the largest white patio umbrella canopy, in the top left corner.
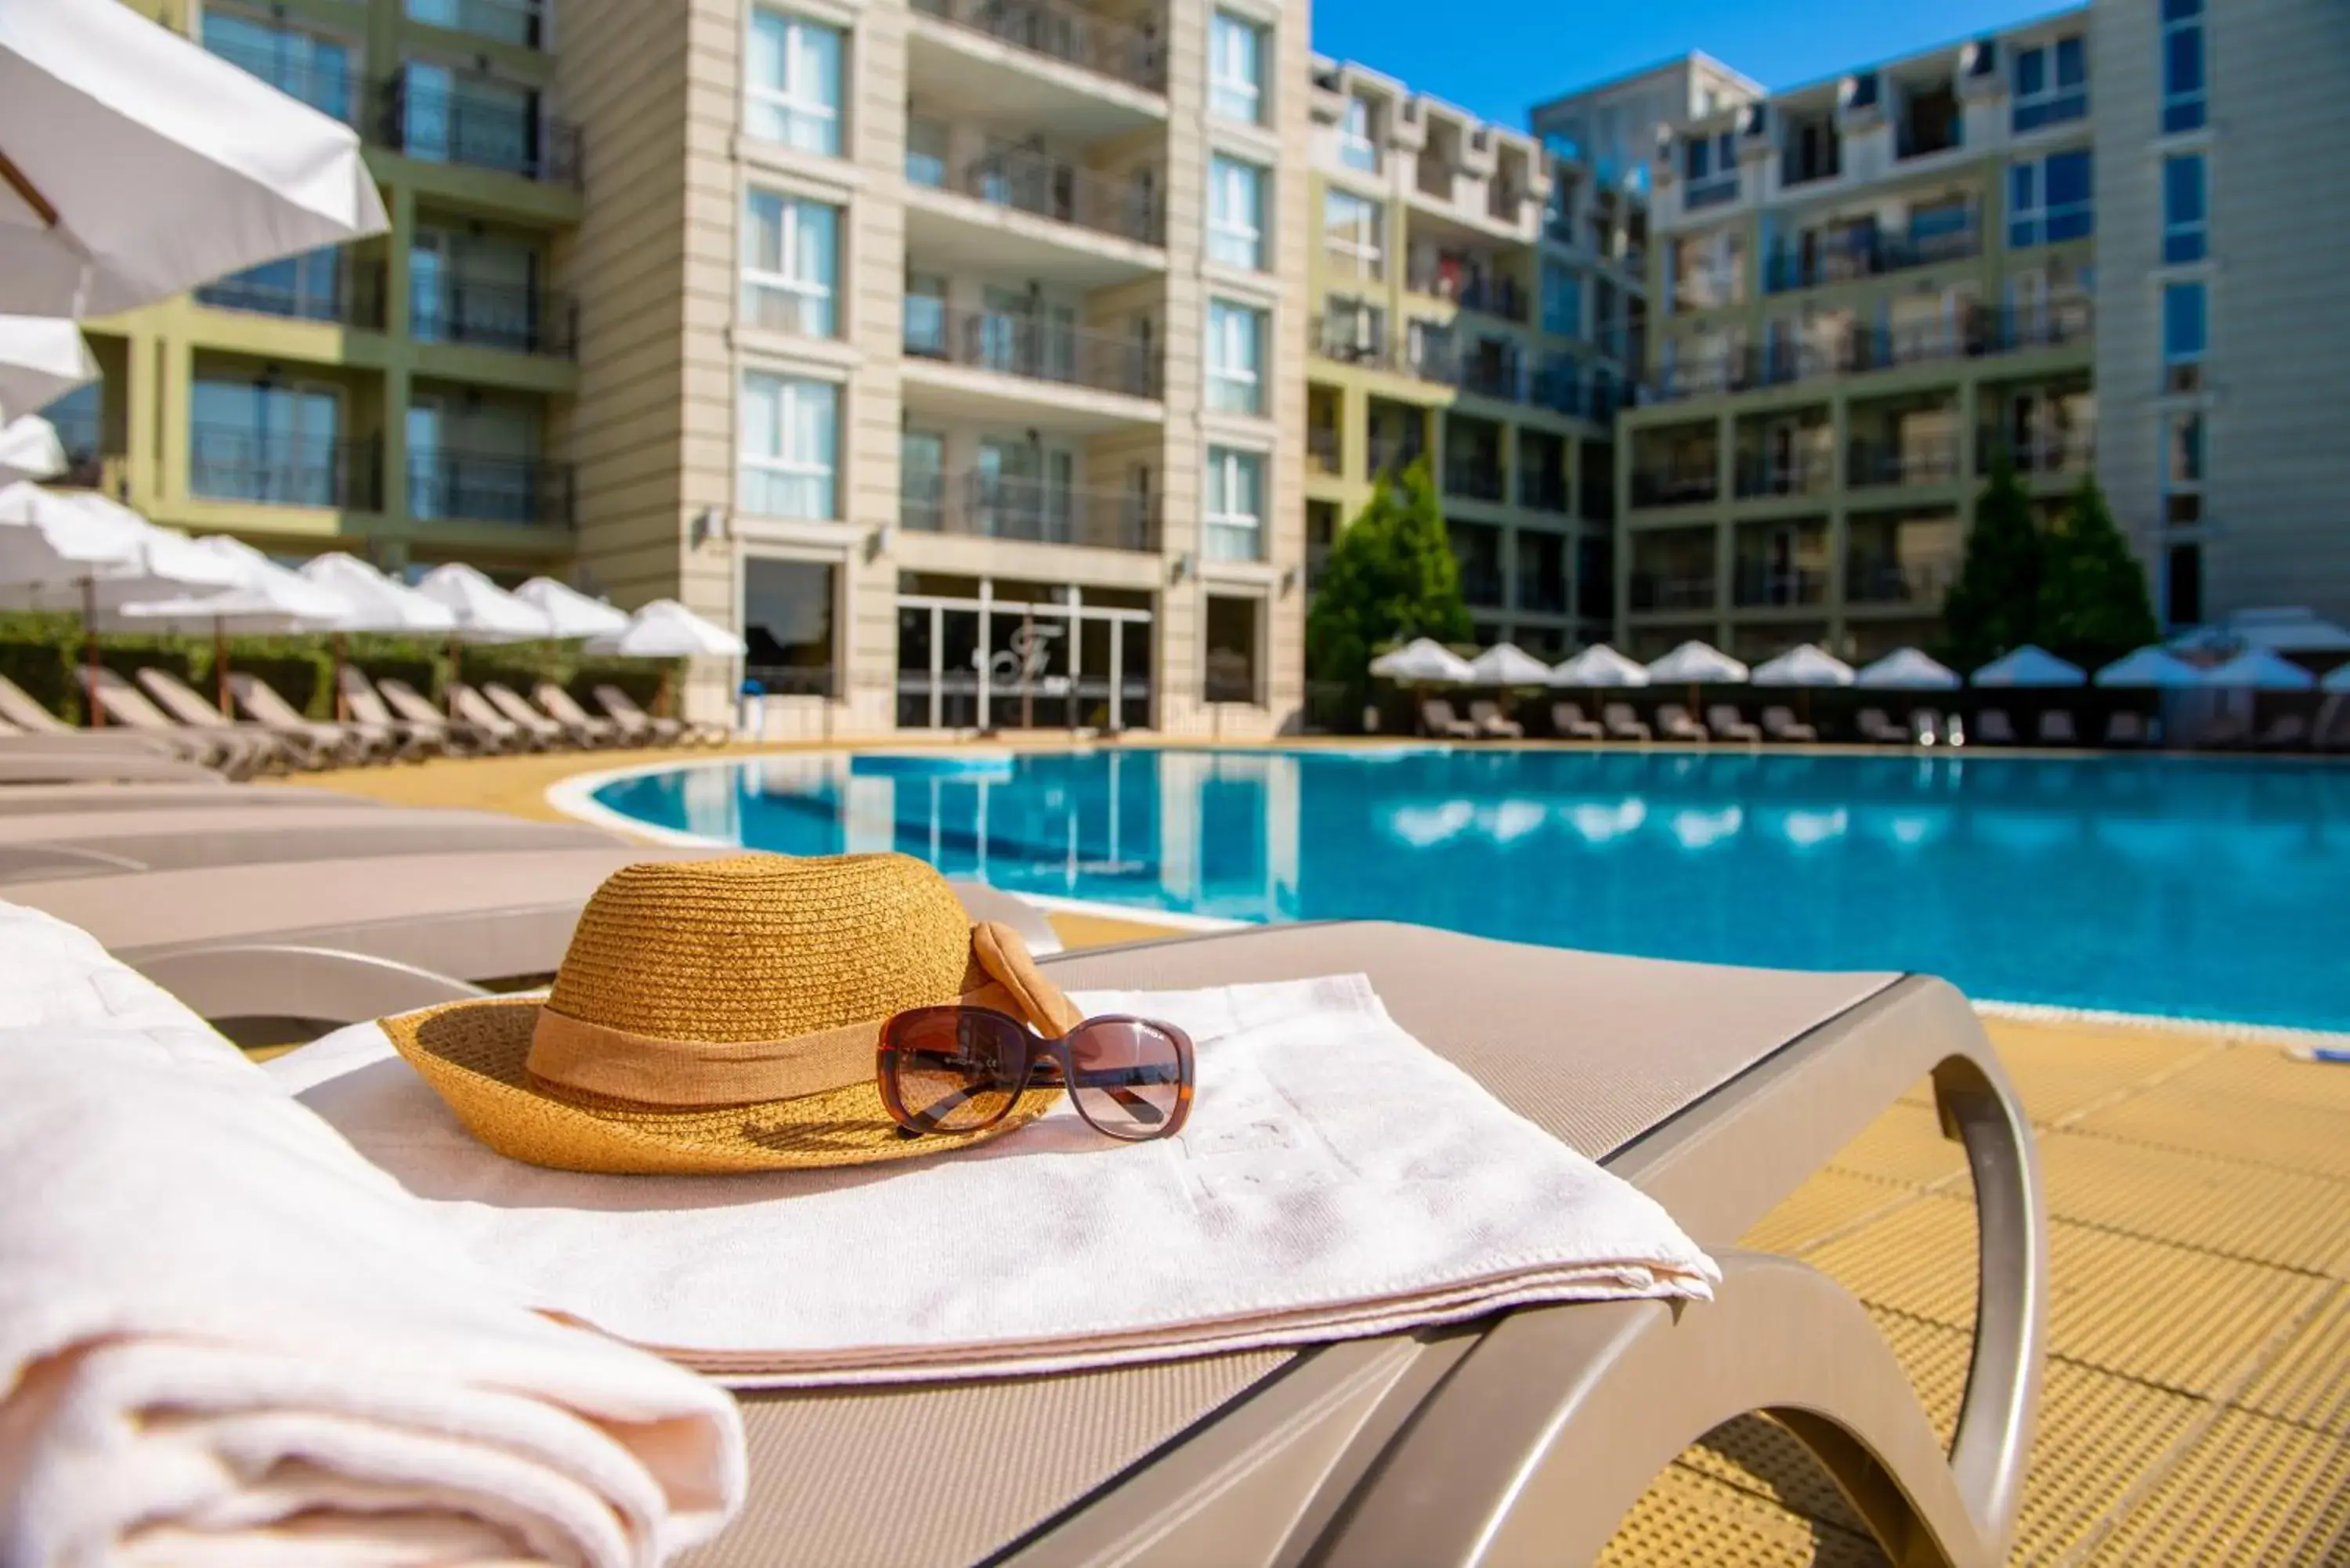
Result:
M0 7L0 310L113 315L381 235L360 134L115 0Z

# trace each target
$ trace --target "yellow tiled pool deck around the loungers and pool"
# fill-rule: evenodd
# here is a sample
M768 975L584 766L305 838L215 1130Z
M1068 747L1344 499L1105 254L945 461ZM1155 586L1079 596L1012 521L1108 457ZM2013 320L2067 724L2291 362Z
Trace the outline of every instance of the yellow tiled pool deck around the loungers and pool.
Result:
M827 748L731 755L780 750ZM562 778L724 755L494 757L294 783L555 818L545 792ZM1050 919L1072 947L1166 933ZM1986 1027L2040 1135L2054 1258L2014 1561L2350 1566L2350 1067L2296 1063L2249 1030ZM1852 1288L1946 1436L1974 1326L1967 1180L1920 1081L1746 1237ZM1605 1561L1882 1559L1793 1441L1746 1418L1683 1453Z

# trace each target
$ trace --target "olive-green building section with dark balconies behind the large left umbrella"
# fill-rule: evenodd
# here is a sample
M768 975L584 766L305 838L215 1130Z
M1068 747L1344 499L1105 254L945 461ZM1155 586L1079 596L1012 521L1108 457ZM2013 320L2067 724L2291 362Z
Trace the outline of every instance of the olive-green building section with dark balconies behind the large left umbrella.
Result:
M564 569L580 134L538 0L136 9L355 125L392 230L92 322L103 381L45 409L68 477L280 555Z

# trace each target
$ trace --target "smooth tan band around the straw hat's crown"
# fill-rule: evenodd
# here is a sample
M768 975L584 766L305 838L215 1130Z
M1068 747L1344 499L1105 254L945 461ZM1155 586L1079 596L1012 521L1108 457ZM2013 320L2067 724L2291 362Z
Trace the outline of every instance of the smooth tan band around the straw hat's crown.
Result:
M844 1023L794 1039L660 1039L538 1009L531 1077L639 1105L750 1105L872 1081L881 1023Z

